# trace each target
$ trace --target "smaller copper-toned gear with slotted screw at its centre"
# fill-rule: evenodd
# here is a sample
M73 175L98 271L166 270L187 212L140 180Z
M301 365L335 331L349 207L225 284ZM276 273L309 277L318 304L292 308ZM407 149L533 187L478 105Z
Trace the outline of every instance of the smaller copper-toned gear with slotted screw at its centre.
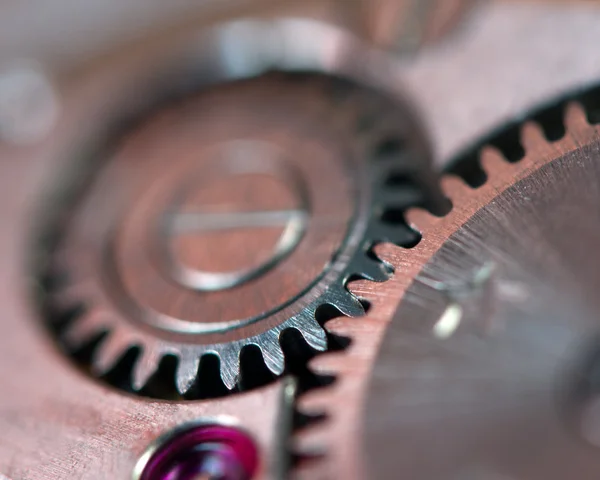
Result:
M323 351L332 311L363 315L346 282L388 279L376 242L416 241L396 214L426 203L419 141L405 108L317 74L171 102L59 187L41 250L45 318L94 375L141 395L247 389L255 347L278 376L287 331Z

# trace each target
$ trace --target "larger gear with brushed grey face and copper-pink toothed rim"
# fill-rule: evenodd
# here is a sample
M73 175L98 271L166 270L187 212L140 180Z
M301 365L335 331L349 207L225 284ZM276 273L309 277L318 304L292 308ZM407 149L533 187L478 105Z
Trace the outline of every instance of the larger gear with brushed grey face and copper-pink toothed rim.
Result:
M597 98L490 137L483 170L457 166L477 188L446 175L450 212L411 209L421 241L375 248L395 276L349 289L392 300L327 325L352 344L310 364L337 380L299 400L324 420L296 447L323 457L296 478L597 478ZM560 454L520 455L538 441Z

